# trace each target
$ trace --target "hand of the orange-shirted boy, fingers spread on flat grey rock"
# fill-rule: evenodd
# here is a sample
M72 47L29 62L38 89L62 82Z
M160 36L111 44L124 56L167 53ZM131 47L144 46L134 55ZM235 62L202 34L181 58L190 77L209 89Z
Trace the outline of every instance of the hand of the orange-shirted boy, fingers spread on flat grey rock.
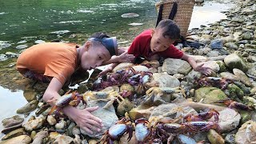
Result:
M87 133L93 134L93 131L100 132L102 129L102 120L95 117L91 112L98 110L98 106L88 107L84 110L72 109L70 112L73 114L70 115L70 118L74 120Z

